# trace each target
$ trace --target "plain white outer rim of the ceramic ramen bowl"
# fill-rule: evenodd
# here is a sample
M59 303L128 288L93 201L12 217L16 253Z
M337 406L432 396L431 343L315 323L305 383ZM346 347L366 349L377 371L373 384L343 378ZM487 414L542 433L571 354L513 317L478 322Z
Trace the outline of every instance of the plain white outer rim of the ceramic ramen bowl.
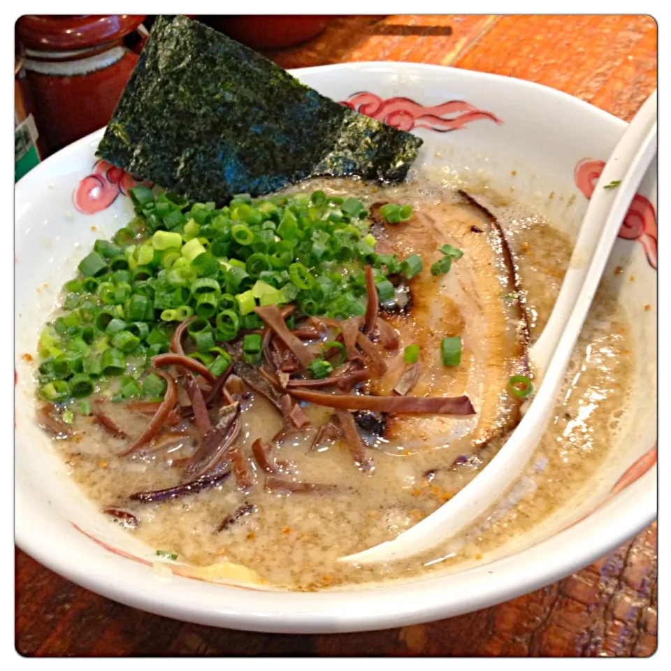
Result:
M478 80L479 82L505 81L511 87L540 91L571 104L578 113L598 117L596 122L617 124L623 128L626 122L600 110L580 99L545 85L520 80L504 75L461 70L432 64L401 62L354 62L290 70L301 75L334 71L356 72L384 68L387 71L420 71L440 73L455 81ZM447 74L449 73L449 75ZM33 171L27 173L16 184L15 200L21 192L41 181L43 166L55 164L68 154L77 153L84 145L101 136L99 129L85 138L64 147L45 159ZM20 432L15 435L18 444ZM158 581L139 582L131 577L115 584L110 581L109 571L92 567L85 556L74 556L68 547L57 542L57 536L48 533L48 521L31 520L22 524L24 505L20 501L20 489L15 488L15 543L37 561L67 579L91 589L95 593L111 598L131 607L147 612L171 616L211 626L241 630L276 633L338 633L376 630L404 626L472 612L482 607L496 605L505 600L539 589L579 570L602 557L622 542L639 533L656 519L657 513L657 468L651 468L637 482L616 494L600 509L569 528L549 538L526 547L521 551L494 560L483 566L467 568L447 575L421 577L412 582L375 585L363 589L339 589L315 593L290 591L243 591L236 586L199 583L192 579L175 576L170 589ZM612 514L614 509L623 514ZM611 514L609 514L611 512ZM28 515L27 517L33 517ZM584 541L589 538L589 543ZM49 540L45 540L49 539ZM582 542L581 542L582 541ZM551 561L547 561L551 558ZM114 557L115 561L120 558ZM491 569L484 579L460 581L470 572ZM138 566L131 567L138 570ZM146 568L144 568L146 570ZM487 579L486 576L493 576ZM461 584L465 583L465 584ZM221 598L211 598L216 591ZM207 597L210 596L208 599ZM417 602L411 598L414 596ZM421 602L421 603L420 603Z

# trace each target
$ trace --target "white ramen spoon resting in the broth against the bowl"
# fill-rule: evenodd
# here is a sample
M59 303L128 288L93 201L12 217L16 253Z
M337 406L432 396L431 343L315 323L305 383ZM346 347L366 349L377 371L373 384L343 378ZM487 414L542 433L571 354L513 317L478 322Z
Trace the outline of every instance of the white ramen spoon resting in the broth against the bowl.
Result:
M573 347L589 312L623 217L657 145L657 91L647 99L612 152L589 201L561 291L529 361L540 387L505 445L475 479L438 510L390 540L339 561L405 559L445 542L472 524L519 478L551 417Z

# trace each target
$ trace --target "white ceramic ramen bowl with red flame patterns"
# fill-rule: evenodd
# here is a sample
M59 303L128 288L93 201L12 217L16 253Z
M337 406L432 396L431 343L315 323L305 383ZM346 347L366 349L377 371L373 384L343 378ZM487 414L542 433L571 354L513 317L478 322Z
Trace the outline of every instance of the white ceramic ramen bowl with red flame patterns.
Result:
M337 101L419 134L426 140L421 160L468 169L497 189L514 187L518 199L569 232L581 221L599 161L625 127L553 89L465 70L360 63L294 74ZM617 241L609 271L626 269L618 291L637 342L629 413L635 421L598 478L547 524L477 566L375 589L287 593L154 575L152 549L103 519L64 475L34 421L31 366L20 356L34 352L59 287L94 240L131 217L124 196L129 176L101 165L94 170L101 134L66 147L16 185L15 528L17 544L38 561L104 596L177 619L285 633L342 632L430 621L519 596L582 568L654 519L657 180L651 169L621 231L630 239ZM79 187L87 175L94 176ZM75 202L100 211L80 212ZM635 281L625 281L630 275ZM643 310L644 304L651 309Z

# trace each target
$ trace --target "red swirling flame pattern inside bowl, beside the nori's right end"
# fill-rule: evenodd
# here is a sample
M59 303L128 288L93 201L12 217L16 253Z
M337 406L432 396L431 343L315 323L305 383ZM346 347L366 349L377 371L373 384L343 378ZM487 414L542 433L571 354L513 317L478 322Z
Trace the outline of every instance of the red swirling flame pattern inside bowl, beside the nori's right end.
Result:
M503 124L503 121L491 112L479 110L463 100L449 100L432 107L420 105L410 98L396 97L384 100L374 93L359 92L352 94L340 104L401 131L426 128L438 133L447 133L458 131L479 120L493 121L499 126Z

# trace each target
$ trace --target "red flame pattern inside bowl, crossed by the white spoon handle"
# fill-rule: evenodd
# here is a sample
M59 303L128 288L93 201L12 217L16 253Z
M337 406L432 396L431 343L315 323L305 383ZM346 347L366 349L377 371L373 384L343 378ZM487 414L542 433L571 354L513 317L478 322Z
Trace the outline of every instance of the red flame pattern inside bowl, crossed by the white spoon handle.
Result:
M604 166L604 161L594 159L582 159L575 166L575 185L587 199L592 197ZM652 203L641 194L634 196L618 237L638 240L643 245L649 264L657 270L657 216Z

